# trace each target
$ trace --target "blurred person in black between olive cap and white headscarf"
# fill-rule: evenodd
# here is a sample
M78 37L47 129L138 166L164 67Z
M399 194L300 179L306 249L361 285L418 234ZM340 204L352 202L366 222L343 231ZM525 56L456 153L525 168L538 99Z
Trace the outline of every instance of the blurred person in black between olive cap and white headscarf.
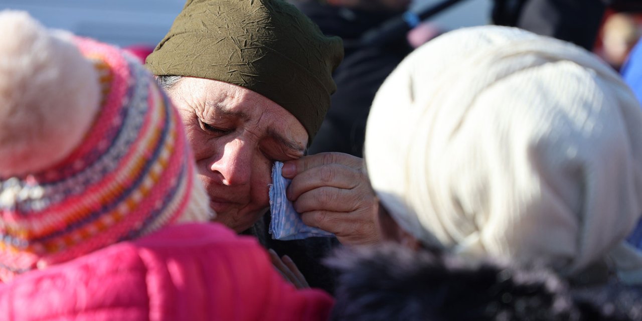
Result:
M343 39L345 56L334 71L337 91L319 128L310 154L342 152L361 157L365 122L374 94L392 69L412 51L439 32L423 24L412 33L399 33L386 42L367 42L377 28L399 17L409 0L292 0L328 36ZM410 36L410 39L408 37Z

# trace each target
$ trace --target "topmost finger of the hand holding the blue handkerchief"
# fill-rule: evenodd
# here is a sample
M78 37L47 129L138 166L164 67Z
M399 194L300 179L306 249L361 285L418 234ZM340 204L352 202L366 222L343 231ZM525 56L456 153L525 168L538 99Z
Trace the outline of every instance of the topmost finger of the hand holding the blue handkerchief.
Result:
M341 164L349 168L361 170L363 168L363 159L346 153L318 153L284 162L281 173L285 178L293 178L310 168L329 164Z

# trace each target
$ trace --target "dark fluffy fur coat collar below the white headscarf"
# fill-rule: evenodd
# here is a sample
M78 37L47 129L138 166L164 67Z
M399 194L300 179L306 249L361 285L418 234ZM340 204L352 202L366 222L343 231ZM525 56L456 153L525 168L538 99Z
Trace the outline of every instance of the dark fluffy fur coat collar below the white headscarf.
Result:
M465 264L386 245L343 250L331 320L642 320L642 292L621 284L571 289L544 268Z

